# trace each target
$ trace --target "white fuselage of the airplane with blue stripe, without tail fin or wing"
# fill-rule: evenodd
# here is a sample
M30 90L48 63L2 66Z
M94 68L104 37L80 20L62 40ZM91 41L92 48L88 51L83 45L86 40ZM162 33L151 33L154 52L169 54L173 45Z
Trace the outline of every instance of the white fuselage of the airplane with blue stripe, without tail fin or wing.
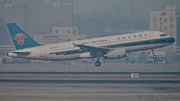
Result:
M89 52L86 53L80 51L80 48L74 46L73 43L93 47L126 48L127 52L133 52L160 48L163 46L170 45L174 42L173 37L167 35L162 36L162 34L164 33L157 31L147 31L124 35L85 39L80 41L49 44L12 51L8 53L8 56L38 60L63 61L80 58L91 58ZM14 52L30 52L30 54L17 55ZM67 52L68 55L51 54L56 52Z

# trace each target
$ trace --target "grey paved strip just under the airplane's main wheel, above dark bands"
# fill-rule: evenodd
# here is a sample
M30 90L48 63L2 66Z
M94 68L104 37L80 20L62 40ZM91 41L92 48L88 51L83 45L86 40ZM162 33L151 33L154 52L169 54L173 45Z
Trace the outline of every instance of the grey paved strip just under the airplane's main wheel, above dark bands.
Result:
M94 63L73 63L63 65L61 63L42 64L1 64L0 72L132 72L132 71L180 71L180 63L174 64L131 64L131 63L102 63L95 67Z

